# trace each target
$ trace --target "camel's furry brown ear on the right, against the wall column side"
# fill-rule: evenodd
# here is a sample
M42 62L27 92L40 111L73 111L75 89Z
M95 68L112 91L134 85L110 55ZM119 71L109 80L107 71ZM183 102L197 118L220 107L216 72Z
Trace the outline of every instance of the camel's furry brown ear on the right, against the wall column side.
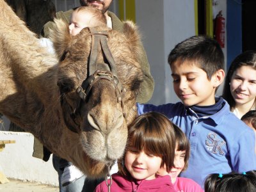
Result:
M140 61L141 54L144 49L142 48L141 35L138 27L131 20L124 21L124 35L129 39L129 43L132 47L132 52L135 54L137 61Z

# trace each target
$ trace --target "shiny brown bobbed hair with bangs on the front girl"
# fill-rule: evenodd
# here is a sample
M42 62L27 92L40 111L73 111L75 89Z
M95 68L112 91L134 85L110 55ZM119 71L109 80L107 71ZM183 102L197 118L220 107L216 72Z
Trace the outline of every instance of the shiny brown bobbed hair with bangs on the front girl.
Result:
M150 112L140 115L129 126L127 145L161 157L161 168L165 164L167 172L170 172L175 152L173 126L175 125L161 113ZM118 167L122 175L130 175L125 168L124 157L118 161Z

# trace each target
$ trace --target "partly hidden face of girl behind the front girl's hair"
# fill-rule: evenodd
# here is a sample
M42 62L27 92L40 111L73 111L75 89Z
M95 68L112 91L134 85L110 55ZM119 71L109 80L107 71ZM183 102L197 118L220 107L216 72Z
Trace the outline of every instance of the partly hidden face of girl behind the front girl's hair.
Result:
M186 156L186 150L177 150L177 147L175 148L175 156L174 156L174 167L172 167L171 172L169 172L169 175L172 178L172 183L176 181L176 178L182 172L184 166L185 166L185 156Z

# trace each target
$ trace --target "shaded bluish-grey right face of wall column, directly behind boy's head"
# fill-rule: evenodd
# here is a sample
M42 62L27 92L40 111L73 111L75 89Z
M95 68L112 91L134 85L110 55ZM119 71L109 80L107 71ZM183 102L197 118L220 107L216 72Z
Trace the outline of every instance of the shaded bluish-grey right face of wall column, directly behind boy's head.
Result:
M194 1L164 1L165 103L179 101L173 91L173 79L167 62L168 55L176 44L193 35L195 35Z

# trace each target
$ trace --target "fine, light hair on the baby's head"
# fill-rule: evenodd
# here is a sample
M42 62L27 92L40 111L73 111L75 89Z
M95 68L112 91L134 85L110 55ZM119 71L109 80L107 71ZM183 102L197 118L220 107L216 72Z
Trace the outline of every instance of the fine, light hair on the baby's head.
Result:
M98 10L97 8L93 8L92 6L80 6L79 8L76 8L74 12L90 13L92 15L92 18L88 20L88 22L90 23L90 27L107 26L107 20L104 13L101 10Z

